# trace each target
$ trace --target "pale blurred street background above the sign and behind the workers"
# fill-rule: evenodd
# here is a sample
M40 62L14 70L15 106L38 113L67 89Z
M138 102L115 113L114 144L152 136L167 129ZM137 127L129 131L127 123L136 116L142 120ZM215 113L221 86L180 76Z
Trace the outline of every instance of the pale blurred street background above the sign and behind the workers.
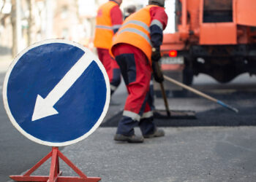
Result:
M0 55L12 55L44 39L68 39L94 50L95 17L108 0L0 0ZM148 0L123 0L137 9ZM166 1L169 16L165 32L174 31L175 0ZM173 6L172 6L173 5Z

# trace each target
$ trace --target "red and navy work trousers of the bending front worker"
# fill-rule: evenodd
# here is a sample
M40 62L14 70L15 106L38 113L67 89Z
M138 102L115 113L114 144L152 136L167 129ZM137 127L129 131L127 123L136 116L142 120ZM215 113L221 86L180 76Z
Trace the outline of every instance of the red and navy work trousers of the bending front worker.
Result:
M138 124L143 135L148 135L155 130L153 113L148 104L151 81L151 66L148 59L140 49L129 44L117 44L113 47L113 55L128 91L117 133L133 135L134 127Z

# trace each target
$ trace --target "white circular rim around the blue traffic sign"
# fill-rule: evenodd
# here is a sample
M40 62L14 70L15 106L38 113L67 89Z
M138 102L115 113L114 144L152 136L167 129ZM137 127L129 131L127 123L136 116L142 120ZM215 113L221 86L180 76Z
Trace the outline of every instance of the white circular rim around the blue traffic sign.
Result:
M80 138L76 138L75 140L72 141L66 141L63 143L53 143L53 142L48 142L48 141L42 141L38 138L35 138L34 136L30 135L28 132L26 132L25 130L23 130L20 125L15 121L14 117L12 116L12 113L10 111L9 108L9 104L7 101L7 84L8 84L8 80L10 77L10 74L12 72L12 68L15 66L15 64L18 62L18 60L20 60L20 58L29 50L33 49L34 47L39 47L42 44L50 44L50 43L64 43L64 44L70 44L73 45L75 47L80 48L81 50L83 50L84 52L86 52L87 57L89 59L93 59L96 61L97 65L99 66L100 70L102 71L102 74L105 78L105 83L107 86L107 95L106 95L106 102L105 102L105 106L103 108L102 114L99 116L98 121L96 122L96 124L94 124L94 127L91 128L91 130L89 130L89 132L86 132L85 135L82 135ZM83 47L82 45L74 42L74 41L67 41L64 39L48 39L45 41L39 41L35 44L32 44L31 46L27 47L25 50L23 50L22 52L20 52L17 57L12 61L10 67L7 70L7 74L4 78L4 87L3 87L3 100L4 100L4 108L7 111L7 115L10 118L10 121L12 122L13 126L19 131L21 132L21 134L25 135L26 138L29 138L31 141L34 141L36 143L45 145L45 146L68 146L71 145L73 143L78 143L79 141L82 141L83 139L87 138L89 135L91 135L91 133L93 133L97 127L99 127L99 124L101 124L102 120L104 119L105 115L107 114L108 111L108 106L110 103L110 83L109 83L109 79L108 79L108 74L105 71L104 66L102 65L102 63L100 62L100 60L97 58L96 55L94 55L89 49L87 49L86 47Z

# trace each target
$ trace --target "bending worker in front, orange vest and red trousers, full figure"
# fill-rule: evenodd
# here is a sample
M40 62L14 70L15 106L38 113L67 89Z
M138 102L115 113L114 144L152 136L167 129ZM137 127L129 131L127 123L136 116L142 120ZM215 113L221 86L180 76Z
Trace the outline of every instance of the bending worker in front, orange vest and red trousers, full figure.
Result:
M144 138L165 135L164 130L154 124L148 100L151 61L157 62L161 58L162 31L167 25L164 7L165 0L149 0L147 7L124 20L113 38L110 51L116 58L128 90L115 141L142 143ZM161 74L153 72L153 75L157 82L163 81ZM140 127L143 136L135 135L136 125Z

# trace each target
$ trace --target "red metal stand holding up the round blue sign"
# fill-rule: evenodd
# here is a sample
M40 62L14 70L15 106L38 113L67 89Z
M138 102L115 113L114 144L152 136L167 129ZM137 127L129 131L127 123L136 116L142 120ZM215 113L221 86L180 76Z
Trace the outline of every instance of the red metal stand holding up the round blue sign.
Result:
M50 164L50 175L31 175L38 167L40 167L44 162L46 162L51 157ZM59 171L59 157L66 162L72 170L75 171L80 177L72 176L61 176L61 171ZM52 151L44 158L42 158L36 165L34 165L28 172L24 175L10 175L10 178L14 181L45 181L45 182L97 182L101 178L98 177L87 177L81 170L78 169L64 154L59 151L58 147L53 147Z

